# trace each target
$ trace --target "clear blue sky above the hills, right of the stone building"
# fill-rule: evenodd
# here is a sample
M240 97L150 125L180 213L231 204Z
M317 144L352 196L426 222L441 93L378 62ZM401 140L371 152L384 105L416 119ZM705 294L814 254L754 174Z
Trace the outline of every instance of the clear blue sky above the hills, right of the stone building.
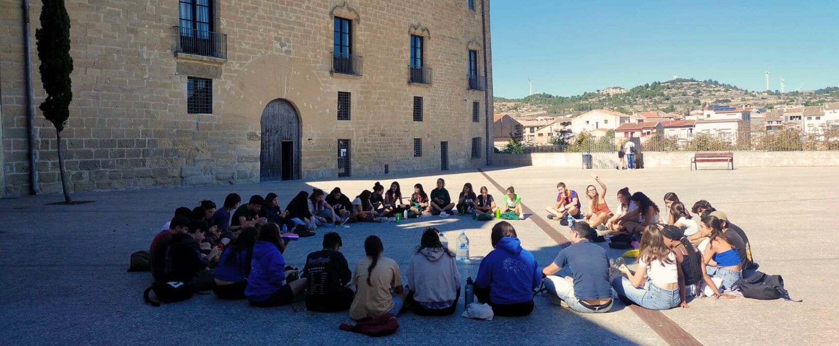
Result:
M839 87L839 0L493 0L497 97L571 96L677 75L748 90Z

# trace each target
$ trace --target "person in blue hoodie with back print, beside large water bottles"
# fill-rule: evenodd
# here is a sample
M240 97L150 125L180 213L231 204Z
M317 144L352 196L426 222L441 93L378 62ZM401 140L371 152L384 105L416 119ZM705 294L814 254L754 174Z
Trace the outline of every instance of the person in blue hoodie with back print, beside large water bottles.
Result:
M527 316L533 312L533 292L542 281L539 265L530 251L522 249L510 223L496 223L491 237L495 249L477 270L477 301L489 304L497 316Z

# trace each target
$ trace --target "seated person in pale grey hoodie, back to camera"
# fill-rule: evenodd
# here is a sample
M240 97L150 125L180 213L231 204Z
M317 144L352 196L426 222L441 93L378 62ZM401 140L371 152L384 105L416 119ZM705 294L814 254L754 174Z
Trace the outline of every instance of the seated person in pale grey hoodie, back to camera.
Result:
M455 254L440 243L437 228L425 228L420 247L408 264L408 301L420 316L448 316L461 296L461 273Z

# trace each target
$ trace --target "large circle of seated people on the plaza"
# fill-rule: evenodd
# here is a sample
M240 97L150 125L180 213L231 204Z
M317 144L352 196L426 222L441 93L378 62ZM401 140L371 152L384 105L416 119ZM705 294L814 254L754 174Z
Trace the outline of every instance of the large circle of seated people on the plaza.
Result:
M602 193L606 185L596 176ZM479 266L474 281L477 301L489 304L498 316L524 316L534 309L534 291L540 286L550 297L576 312L607 312L612 307L612 288L626 302L649 309L687 307L687 298L720 297L732 290L744 270L753 270L748 238L742 228L729 223L725 213L706 201L696 202L688 212L675 193L664 196L669 217L659 218L659 207L642 192L618 191L619 213L612 213L595 186L586 188L589 212L581 211L576 191L558 186L560 196L550 208L551 217L580 219L571 228L571 245L562 249L550 265L541 269L534 255L523 249L513 225L494 225L493 250ZM222 299L248 299L257 307L276 307L305 299L315 312L349 309L360 320L404 306L418 315L448 315L461 297L461 274L455 254L440 242L440 231L427 228L407 268L403 286L399 265L383 255L377 236L364 242L366 256L350 270L341 254L341 236L323 235L323 248L308 254L302 272L286 265L284 251L290 238L284 233L349 220L379 221L394 212L417 215L452 212L492 213L497 208L487 188L481 194L466 184L457 203L451 202L445 181L437 181L431 197L422 186L414 187L410 204L403 204L399 183L388 191L376 183L353 202L335 188L328 196L315 189L301 191L286 210L278 197L254 195L247 204L232 193L221 208L202 201L194 209L180 207L175 217L158 233L149 249L154 280L188 283L195 291L212 290ZM520 197L508 189L501 209L521 212ZM513 203L509 203L513 202ZM692 212L692 213L691 213ZM232 214L231 214L232 213ZM700 215L698 222L694 215ZM612 242L637 239L638 268L629 270L620 259L612 261L606 249L592 242L607 235ZM624 276L625 275L625 276Z

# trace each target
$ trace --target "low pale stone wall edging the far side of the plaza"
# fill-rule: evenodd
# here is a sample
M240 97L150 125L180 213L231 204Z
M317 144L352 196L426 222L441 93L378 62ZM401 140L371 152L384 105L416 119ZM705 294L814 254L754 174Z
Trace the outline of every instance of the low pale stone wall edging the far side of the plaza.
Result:
M691 151L639 153L644 168L689 168ZM492 165L548 165L582 167L582 153L493 154ZM591 168L614 169L616 153L591 153ZM700 168L725 168L726 163L700 163ZM737 167L839 166L839 151L734 151Z

